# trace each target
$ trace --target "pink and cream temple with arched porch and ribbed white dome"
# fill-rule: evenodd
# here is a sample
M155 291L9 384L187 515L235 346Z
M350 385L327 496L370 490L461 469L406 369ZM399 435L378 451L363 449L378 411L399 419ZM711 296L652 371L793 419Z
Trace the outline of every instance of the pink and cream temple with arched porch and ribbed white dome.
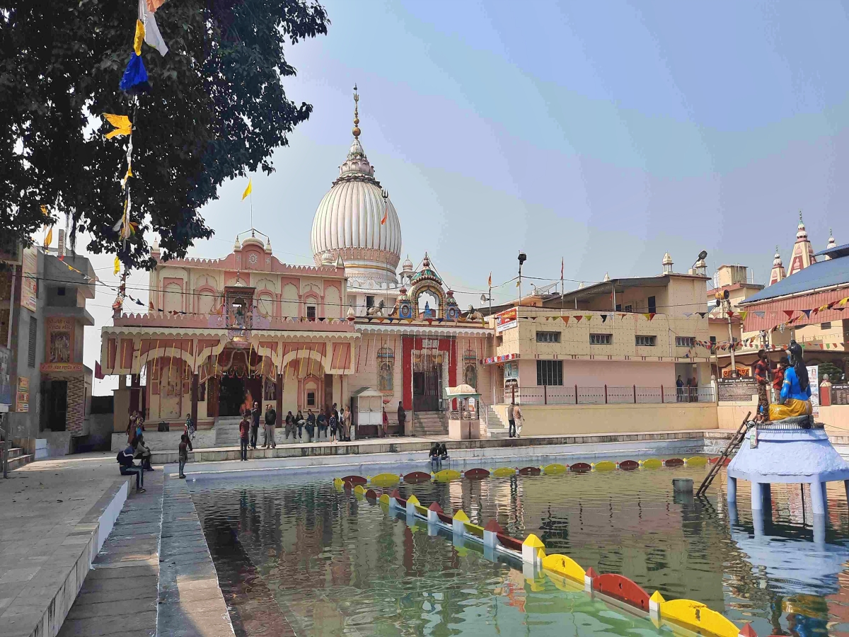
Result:
M354 97L351 147L312 223L314 266L280 262L256 228L219 259L164 261L154 245L148 311L115 313L103 329L104 374L132 378L115 414L191 414L209 428L255 401L306 413L372 390L390 432L402 403L413 418L397 432L447 433L442 390L482 381L487 330L427 254L397 272L401 223L360 142Z

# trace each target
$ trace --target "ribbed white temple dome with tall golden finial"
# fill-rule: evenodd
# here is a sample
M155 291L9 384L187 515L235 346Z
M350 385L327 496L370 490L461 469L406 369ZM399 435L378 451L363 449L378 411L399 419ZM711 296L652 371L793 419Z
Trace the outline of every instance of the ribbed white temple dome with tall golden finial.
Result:
M354 99L359 96L355 93ZM352 279L396 283L401 261L401 223L389 195L374 178L354 110L354 140L339 178L318 204L312 219L312 258L321 265L341 257ZM380 221L386 217L386 222Z

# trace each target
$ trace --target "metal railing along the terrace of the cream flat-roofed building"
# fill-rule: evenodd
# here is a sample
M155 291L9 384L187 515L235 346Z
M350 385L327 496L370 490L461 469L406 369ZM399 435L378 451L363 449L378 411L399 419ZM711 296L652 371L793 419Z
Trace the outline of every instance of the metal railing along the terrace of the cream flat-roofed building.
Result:
M529 386L505 389L503 402L515 399L523 405L604 405L604 404L661 404L661 403L715 403L716 393L712 386L642 387L603 385L582 386Z

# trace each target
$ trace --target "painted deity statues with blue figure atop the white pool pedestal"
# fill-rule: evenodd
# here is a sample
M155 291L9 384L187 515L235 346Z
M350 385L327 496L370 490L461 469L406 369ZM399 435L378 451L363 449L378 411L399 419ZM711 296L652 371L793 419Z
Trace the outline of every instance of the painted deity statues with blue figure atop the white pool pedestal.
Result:
M757 352L755 382L757 385L757 418L784 420L794 416L811 415L811 383L802 356L801 345L790 341L790 356L784 356L773 367L766 350ZM772 392L769 390L772 389ZM770 403L769 393L773 400Z

